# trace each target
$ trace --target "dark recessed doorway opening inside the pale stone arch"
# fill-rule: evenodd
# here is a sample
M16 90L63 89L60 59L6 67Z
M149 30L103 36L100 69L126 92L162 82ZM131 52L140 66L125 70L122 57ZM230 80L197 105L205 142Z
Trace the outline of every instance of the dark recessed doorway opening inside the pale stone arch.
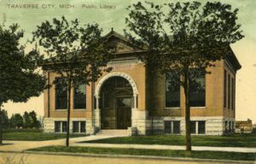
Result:
M131 83L122 76L109 77L102 83L99 107L102 129L131 127L131 108L134 105Z

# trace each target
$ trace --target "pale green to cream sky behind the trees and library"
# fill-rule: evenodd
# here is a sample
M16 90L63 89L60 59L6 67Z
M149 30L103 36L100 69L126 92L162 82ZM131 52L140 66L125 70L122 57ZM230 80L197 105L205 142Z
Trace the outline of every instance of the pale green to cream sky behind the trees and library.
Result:
M148 0L153 2L153 0ZM189 0L187 0L189 1ZM160 0L158 3L175 3L176 0ZM181 2L181 1L179 1ZM185 2L185 1L183 1ZM201 3L207 2L201 0ZM239 8L238 23L245 37L231 48L241 63L241 70L236 75L236 120L250 118L256 123L256 1L255 0L222 0L230 3L232 8ZM26 39L31 38L32 31L44 20L60 18L62 15L68 20L78 18L82 24L98 23L104 33L113 27L114 31L123 33L128 5L137 0L0 0L0 23L5 25L18 23L25 31ZM31 8L20 8L20 5L30 5ZM61 8L69 4L70 8ZM66 5L68 7L68 5ZM108 8L103 8L108 6ZM102 7L102 8L101 8ZM0 84L1 85L1 84ZM31 98L26 103L4 104L9 116L13 113L35 110L38 116L44 116L44 97Z

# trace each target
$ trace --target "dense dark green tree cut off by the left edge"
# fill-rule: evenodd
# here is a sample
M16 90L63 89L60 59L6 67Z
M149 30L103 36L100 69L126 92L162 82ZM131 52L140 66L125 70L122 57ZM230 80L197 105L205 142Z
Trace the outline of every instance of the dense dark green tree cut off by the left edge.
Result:
M44 76L36 70L40 58L35 50L25 53L25 46L20 44L23 34L17 24L7 29L0 25L0 111L3 103L9 100L26 102L32 96L39 96L44 89Z

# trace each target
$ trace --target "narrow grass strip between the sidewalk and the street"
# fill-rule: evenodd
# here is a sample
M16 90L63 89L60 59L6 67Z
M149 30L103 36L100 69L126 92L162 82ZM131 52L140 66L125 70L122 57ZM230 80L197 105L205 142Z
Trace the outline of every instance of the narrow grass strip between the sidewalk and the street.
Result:
M90 153L108 155L131 155L131 156L169 156L169 157L191 157L201 159L218 160L243 160L255 161L256 153L220 152L220 151L192 151L185 150L141 150L120 148L91 148L91 147L66 147L46 146L32 151L68 152L68 153Z

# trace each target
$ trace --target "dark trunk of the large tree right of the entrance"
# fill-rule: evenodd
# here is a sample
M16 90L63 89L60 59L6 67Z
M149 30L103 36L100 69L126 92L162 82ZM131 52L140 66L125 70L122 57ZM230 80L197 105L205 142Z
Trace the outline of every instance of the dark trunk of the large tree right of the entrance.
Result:
M189 105L189 71L184 73L183 88L184 88L184 93L185 93L186 150L191 151L190 105Z

